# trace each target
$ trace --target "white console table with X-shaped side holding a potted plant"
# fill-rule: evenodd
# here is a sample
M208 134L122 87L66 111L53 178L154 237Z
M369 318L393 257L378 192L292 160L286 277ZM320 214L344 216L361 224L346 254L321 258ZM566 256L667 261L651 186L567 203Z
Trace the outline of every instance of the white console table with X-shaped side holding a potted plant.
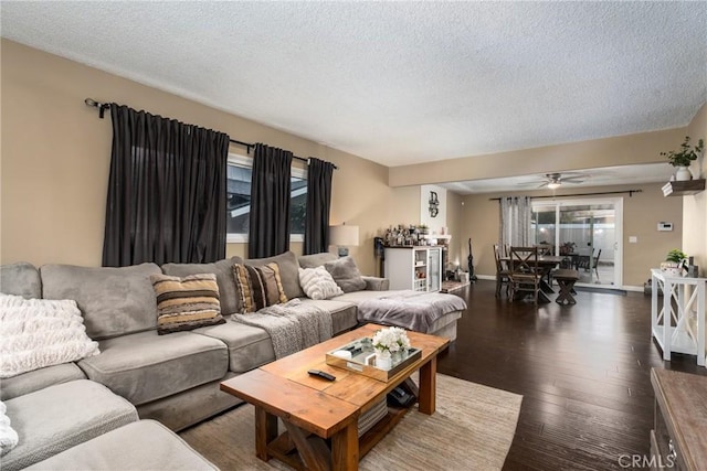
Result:
M697 355L705 366L705 288L707 278L667 275L652 268L651 334L663 349L663 360L671 353ZM658 290L663 302L658 302Z

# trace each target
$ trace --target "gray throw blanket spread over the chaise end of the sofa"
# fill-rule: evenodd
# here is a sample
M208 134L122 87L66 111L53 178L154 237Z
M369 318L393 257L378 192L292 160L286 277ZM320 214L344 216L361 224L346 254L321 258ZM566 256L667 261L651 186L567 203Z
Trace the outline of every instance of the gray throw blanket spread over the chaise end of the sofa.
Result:
M394 291L359 303L358 320L430 333L430 329L437 319L464 309L466 309L466 302L458 296L442 292Z

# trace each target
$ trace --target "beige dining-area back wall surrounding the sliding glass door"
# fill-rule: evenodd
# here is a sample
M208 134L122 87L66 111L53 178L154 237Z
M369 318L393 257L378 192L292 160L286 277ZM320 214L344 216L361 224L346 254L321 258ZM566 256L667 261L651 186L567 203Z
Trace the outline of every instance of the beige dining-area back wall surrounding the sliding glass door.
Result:
M623 190L642 190L623 197L623 285L640 287L650 278L650 270L665 259L671 248L679 247L683 234L679 197L664 197L661 184L582 188L581 193ZM570 190L558 190L557 195L571 194ZM504 193L504 195L541 195L545 192ZM474 244L476 275L494 276L493 245L498 243L498 201L500 194L468 195L463 199L462 233L471 234ZM582 196L585 199L587 196ZM672 222L673 232L658 232L658 222ZM629 244L629 236L636 236L636 244Z

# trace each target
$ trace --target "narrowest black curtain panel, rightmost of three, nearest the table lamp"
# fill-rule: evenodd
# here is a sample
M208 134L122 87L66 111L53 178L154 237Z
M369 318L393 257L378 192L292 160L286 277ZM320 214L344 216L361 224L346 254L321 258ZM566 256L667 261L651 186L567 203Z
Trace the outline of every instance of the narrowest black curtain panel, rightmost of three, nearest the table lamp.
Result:
M329 210L334 163L309 158L307 170L307 215L304 255L329 249Z

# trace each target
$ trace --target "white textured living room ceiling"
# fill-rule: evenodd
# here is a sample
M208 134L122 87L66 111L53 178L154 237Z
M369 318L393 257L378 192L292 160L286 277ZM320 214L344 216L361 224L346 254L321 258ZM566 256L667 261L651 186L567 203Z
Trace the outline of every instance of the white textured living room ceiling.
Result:
M705 1L0 8L8 39L390 167L682 127L707 98Z

